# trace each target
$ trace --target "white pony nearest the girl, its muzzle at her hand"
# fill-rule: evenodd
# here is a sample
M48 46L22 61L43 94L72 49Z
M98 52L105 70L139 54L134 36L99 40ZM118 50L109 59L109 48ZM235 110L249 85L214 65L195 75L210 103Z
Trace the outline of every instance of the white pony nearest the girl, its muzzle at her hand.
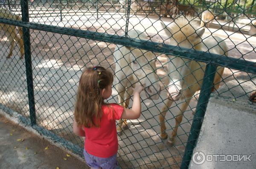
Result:
M128 37L147 40L147 35L137 30L128 32ZM146 96L150 99L158 99L160 92L160 82L156 74L156 56L151 51L137 48L130 48L116 45L113 53L116 63L116 90L118 92L119 104L128 107L130 97L133 93L132 85L140 82L143 85ZM127 128L127 122L119 120L117 131Z

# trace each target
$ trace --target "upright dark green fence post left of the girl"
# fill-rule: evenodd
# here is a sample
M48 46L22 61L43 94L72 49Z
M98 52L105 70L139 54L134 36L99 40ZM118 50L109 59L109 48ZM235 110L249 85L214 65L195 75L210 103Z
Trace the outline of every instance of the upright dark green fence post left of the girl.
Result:
M29 23L29 4L28 0L21 0L21 12L22 21ZM35 117L35 98L34 98L34 87L33 87L33 72L32 72L32 59L31 59L31 49L30 49L30 32L29 28L23 26L23 39L24 39L24 49L25 49L25 64L26 64L26 79L28 87L28 97L29 97L29 114L31 125L36 124Z

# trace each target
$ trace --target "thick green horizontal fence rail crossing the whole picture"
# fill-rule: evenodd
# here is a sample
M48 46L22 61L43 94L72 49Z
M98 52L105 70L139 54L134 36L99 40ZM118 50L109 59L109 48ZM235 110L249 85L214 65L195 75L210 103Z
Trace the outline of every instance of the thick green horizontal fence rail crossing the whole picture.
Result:
M119 37L117 35L104 34L96 31L74 30L71 28L64 28L52 25L44 25L37 23L24 23L14 20L0 19L0 23L6 23L10 25L24 26L41 31L55 32L58 34L65 34L70 36L76 36L86 39L99 40L102 42L115 43L119 45L125 45L134 48L140 48L148 51L153 51L161 54L170 54L180 56L186 59L193 59L200 62L209 62L212 64L232 68L248 73L256 73L256 63L246 61L243 59L235 59L228 56L221 56L218 54L210 54L203 51L195 51L193 49L181 48L173 45L166 45L162 43L149 42L143 40L132 39L129 37ZM164 47L162 47L164 46Z

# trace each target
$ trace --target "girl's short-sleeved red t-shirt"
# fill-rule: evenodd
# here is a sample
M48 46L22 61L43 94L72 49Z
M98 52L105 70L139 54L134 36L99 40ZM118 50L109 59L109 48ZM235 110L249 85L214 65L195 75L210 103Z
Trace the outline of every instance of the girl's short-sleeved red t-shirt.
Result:
M89 154L109 158L117 153L116 120L121 118L123 110L124 108L118 104L103 105L99 127L83 127L84 149Z

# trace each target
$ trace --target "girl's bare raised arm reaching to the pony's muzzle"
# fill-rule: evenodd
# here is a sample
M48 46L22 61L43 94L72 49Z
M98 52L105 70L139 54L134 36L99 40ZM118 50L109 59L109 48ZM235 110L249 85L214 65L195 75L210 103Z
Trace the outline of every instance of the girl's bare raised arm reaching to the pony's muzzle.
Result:
M134 97L133 97L133 104L131 109L124 109L121 115L123 119L137 119L140 117L141 114L141 103L140 103L140 93L143 90L143 86L136 84L134 88Z

